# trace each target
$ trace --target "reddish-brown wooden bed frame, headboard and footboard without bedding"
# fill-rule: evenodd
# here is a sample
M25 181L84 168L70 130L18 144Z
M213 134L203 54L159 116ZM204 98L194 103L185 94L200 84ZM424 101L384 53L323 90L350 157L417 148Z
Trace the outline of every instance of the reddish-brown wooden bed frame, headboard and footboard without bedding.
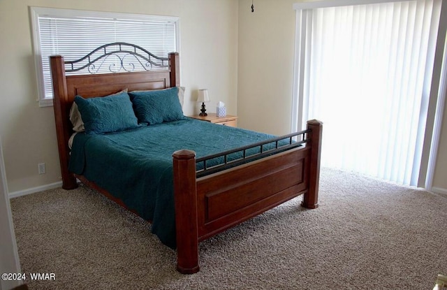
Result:
M128 45L126 43L111 45L119 45L122 52L140 54L134 45L133 49L127 49L124 46ZM111 52L106 51L108 48L109 45L104 45L101 50L110 55ZM149 61L151 57L154 56L147 57ZM161 61L167 61L168 64L162 71L66 75L66 71L71 70L76 61L64 61L61 56L50 57L54 117L64 189L78 187L78 178L112 198L107 191L85 177L68 171L68 139L73 133L68 116L75 96L79 94L89 98L113 94L122 89L132 91L179 86L179 54L170 53L168 58L161 58ZM202 240L300 194L304 194L303 207L318 207L322 123L316 120L307 122L307 131L301 135L304 142L300 147L203 177L198 177L196 172L195 152L182 149L173 153L177 270L180 273L198 272L198 243ZM112 199L117 201L116 198ZM120 201L117 202L122 205Z

